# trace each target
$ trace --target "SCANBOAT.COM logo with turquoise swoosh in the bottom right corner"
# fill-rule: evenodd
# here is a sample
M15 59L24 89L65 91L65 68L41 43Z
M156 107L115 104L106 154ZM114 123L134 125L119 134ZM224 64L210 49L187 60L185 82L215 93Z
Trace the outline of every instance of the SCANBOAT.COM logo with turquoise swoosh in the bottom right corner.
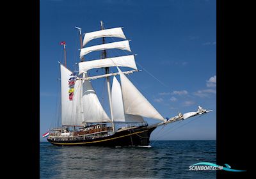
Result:
M193 164L192 166L189 166L189 170L225 170L225 171L234 171L234 172L241 172L246 170L239 170L239 169L231 169L231 167L228 164L225 164L226 167L219 166L217 164L212 164L209 162L200 162L197 164Z

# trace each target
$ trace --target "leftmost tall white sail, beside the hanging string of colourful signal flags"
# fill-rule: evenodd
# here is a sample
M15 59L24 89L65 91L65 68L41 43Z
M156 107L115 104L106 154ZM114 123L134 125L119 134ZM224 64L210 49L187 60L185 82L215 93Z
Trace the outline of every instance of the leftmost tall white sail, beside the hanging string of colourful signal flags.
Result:
M73 100L69 100L68 81L72 72L60 65L61 72L61 121L62 125L83 125L81 118L81 82L76 81Z

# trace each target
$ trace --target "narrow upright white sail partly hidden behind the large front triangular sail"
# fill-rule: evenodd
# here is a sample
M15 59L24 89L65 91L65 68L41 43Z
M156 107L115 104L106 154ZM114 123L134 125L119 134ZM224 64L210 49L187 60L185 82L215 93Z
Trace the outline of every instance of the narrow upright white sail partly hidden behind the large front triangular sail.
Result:
M124 123L138 123L144 121L141 116L124 113L122 90L120 83L115 76L113 77L111 94L114 121L120 121Z

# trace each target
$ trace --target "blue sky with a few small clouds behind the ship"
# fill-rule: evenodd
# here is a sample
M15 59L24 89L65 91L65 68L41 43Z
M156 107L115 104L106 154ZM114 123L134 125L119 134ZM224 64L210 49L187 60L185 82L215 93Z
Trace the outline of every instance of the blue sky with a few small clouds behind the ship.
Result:
M124 27L125 36L132 40L132 54L138 54L138 68L149 72L143 70L129 79L164 117L196 111L198 105L214 110L190 123L159 127L150 139L216 139L216 1L40 0L40 141L45 141L42 134L60 116L60 42L67 43L68 68L77 70L80 47L74 26L82 27L83 33L97 31L100 20L105 28ZM99 43L93 40L88 45ZM100 52L92 52L86 59L99 56ZM103 82L93 81L100 97L106 93ZM106 109L107 104L103 101ZM157 120L148 120L152 122Z

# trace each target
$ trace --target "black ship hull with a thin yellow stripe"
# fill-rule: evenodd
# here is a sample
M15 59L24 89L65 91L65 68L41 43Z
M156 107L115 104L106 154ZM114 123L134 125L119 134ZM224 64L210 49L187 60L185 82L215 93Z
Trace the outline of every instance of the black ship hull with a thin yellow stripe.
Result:
M47 141L56 146L148 146L150 134L155 128L133 128L97 139L53 141L47 138Z

